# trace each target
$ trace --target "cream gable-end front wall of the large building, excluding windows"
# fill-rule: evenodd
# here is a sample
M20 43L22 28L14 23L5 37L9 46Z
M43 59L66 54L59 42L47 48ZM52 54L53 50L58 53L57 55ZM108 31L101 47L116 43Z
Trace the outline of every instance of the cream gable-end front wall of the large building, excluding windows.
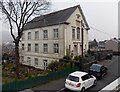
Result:
M79 19L77 18L76 14L80 14L79 9L77 8L75 12L69 17L67 22L70 24L66 28L66 48L69 48L69 45L71 45L71 50L74 50L74 45L78 46L78 55L81 55L81 46L82 45L82 34L81 34L81 20L83 21L82 15L80 14ZM76 21L79 21L80 23L77 23ZM84 23L84 21L83 21ZM85 23L84 23L85 24ZM80 28L80 39L77 39L77 27ZM75 39L72 39L72 28L75 28ZM84 39L84 51L88 50L88 31L84 28L83 30L83 39Z

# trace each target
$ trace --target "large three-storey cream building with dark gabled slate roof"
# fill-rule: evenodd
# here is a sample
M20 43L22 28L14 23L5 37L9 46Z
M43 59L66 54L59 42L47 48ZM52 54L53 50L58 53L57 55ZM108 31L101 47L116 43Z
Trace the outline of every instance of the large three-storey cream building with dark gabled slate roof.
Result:
M82 31L83 29L83 36ZM81 55L88 50L89 26L80 5L34 18L24 28L20 42L20 62L46 70L53 60Z

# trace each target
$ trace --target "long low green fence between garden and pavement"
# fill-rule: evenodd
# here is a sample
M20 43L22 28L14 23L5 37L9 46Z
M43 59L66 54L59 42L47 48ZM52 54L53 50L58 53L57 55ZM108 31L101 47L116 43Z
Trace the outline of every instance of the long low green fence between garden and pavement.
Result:
M77 71L77 70L80 70L80 67L65 69L65 70L58 71L58 72L51 72L46 76L33 77L33 78L29 78L27 80L14 81L11 83L3 84L2 92L6 92L6 91L17 92L18 90L30 88L33 86L37 86L37 85L49 82L54 79L65 77L69 73Z

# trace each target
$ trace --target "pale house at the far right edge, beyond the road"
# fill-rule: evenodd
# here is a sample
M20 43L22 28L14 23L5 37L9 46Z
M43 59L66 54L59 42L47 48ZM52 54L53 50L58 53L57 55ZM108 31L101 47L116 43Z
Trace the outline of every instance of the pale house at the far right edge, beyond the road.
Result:
M118 52L120 50L120 39L110 39L105 42L105 49Z

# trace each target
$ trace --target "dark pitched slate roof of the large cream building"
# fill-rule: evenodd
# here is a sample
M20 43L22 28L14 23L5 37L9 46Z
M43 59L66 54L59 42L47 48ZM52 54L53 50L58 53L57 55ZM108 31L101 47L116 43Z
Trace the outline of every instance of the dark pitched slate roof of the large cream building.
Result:
M64 10L60 10L60 11L56 11L53 13L49 13L46 15L41 15L39 17L36 17L25 25L24 30L67 23L66 22L67 19L76 10L76 8L79 8L81 15L83 17L83 20L85 21L85 24L86 24L87 28L89 29L89 26L87 24L85 16L83 15L80 5L77 5L77 6L70 7L70 8L64 9Z

